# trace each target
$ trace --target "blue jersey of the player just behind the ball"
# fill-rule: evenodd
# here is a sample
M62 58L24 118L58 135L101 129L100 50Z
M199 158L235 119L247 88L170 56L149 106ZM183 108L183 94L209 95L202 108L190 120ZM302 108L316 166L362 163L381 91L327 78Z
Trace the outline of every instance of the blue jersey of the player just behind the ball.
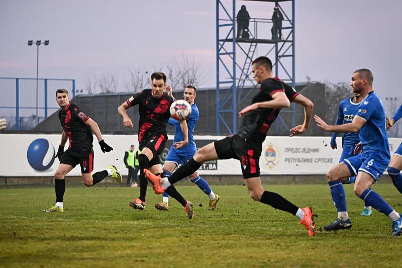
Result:
M191 115L186 120L187 128L188 128L188 144L180 149L175 149L172 145L170 147L170 150L175 150L176 153L179 153L179 154L188 154L190 152L194 153L197 151L197 147L195 145L193 134L194 134L195 125L198 122L198 118L199 118L198 108L194 103L193 105L191 105ZM174 125L174 141L173 141L173 143L178 142L178 141L183 141L184 135L183 135L183 132L181 131L180 122L173 118L170 118L167 123L169 125Z

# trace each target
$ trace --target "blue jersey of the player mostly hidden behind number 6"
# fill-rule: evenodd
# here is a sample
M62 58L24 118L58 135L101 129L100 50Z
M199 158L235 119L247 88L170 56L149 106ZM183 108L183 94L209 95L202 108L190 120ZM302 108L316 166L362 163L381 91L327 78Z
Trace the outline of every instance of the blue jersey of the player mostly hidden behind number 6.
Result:
M343 100L339 104L338 120L336 125L352 123L357 111L359 110L360 103L354 103L353 98ZM359 131L356 133L344 133L342 137L342 148L354 147L360 142ZM331 144L335 144L335 138L338 133L332 134Z

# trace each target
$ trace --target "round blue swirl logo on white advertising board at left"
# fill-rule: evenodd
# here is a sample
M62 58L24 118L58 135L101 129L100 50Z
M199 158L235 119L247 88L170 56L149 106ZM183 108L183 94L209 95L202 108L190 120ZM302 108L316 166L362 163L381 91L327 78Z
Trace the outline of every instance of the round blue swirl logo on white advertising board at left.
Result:
M27 159L33 169L48 170L54 163L56 152L53 145L46 139L36 139L28 147Z

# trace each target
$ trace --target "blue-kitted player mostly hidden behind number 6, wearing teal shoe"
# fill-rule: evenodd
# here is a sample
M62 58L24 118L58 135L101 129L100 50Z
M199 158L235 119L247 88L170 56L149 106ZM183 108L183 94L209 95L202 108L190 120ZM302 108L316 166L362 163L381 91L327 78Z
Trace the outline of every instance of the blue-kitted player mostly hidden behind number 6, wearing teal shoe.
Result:
M353 122L353 119L355 118L355 115L357 114L359 110L359 104L363 100L363 98L360 96L360 94L355 93L353 94L353 98L348 98L343 100L339 104L339 110L338 110L338 119L335 122L335 125L342 125L342 124L347 124ZM338 145L336 143L336 137L338 136L339 133L332 133L332 138L331 138L331 148L332 149L338 149ZM352 157L355 155L354 150L355 146L360 142L360 131L357 131L356 133L344 133L342 137L342 155L341 158L339 159L339 163L343 162L344 159L347 159L349 157ZM342 184L352 184L356 181L356 176L351 176L348 178L343 178L341 180ZM343 188L343 187L342 187ZM332 189L332 188L330 188ZM331 195L336 194L331 191ZM345 195L345 190L341 190L340 193L341 195ZM335 199L333 197L333 199ZM364 204L364 210L360 214L361 216L370 216L371 215L371 207L368 206L367 204ZM345 204L340 204L338 207L338 212L344 211L343 209L346 210L346 203Z

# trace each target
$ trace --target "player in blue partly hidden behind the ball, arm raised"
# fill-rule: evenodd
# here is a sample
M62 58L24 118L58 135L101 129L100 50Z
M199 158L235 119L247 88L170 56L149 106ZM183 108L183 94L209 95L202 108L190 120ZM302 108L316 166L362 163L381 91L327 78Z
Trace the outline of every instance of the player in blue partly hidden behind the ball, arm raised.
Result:
M170 118L167 122L169 125L174 125L174 141L170 147L169 153L167 154L163 171L166 176L170 176L174 169L180 164L185 164L190 160L194 154L197 152L197 147L195 145L193 133L195 125L198 122L199 112L194 99L196 98L197 90L195 86L188 85L184 88L183 97L186 102L191 105L191 115L186 119L188 126L188 139L183 135L183 131L180 127L180 122ZM188 144L182 148L177 148L177 145L182 143L184 140L188 140ZM215 195L204 178L198 175L198 172L194 172L188 176L194 184L198 186L199 189L203 190L210 198L210 203L208 205L209 210L214 210L220 197ZM169 195L163 193L163 201L159 204L155 204L155 208L158 210L168 210L169 209Z

